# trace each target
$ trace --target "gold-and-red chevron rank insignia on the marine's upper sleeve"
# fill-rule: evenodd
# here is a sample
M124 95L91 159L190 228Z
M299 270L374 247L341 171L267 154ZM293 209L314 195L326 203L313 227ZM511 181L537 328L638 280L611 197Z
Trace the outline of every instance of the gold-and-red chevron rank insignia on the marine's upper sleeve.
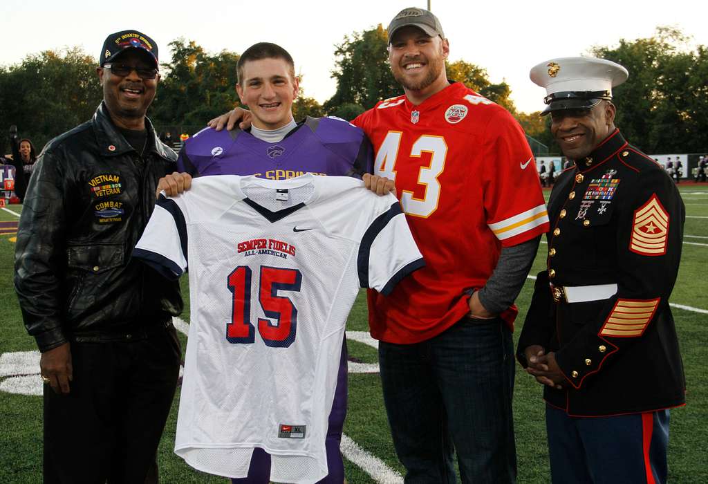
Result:
M666 254L668 239L668 213L656 194L634 212L632 240L629 250L639 255Z

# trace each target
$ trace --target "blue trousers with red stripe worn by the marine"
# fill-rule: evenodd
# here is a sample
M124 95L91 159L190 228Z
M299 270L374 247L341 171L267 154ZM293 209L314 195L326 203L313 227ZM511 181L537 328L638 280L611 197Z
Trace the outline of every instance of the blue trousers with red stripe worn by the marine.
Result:
M665 484L669 411L570 417L546 405L554 484Z

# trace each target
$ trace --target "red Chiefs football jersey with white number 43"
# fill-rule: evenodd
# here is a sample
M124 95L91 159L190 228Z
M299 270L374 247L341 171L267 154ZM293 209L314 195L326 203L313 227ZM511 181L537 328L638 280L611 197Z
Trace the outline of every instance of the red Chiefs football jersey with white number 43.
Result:
M375 173L395 180L426 260L389 296L369 292L371 334L427 340L469 312L465 292L484 286L502 246L548 231L533 155L508 111L462 83L417 106L384 100L353 123L374 145ZM502 317L513 325L516 312Z

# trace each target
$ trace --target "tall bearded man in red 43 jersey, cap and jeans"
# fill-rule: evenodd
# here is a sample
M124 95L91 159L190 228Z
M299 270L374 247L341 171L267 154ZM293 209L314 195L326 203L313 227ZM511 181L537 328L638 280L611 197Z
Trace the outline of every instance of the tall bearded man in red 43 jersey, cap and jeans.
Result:
M376 153L367 187L396 189L426 260L368 299L396 454L406 483L455 483L453 449L462 482L513 483L513 301L549 229L533 155L506 110L447 80L433 13L405 8L388 32L405 94L353 124Z

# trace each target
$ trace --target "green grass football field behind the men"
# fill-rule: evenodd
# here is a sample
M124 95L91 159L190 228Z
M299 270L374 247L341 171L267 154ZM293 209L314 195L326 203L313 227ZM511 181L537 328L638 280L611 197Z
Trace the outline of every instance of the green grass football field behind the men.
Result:
M689 217L708 217L708 187L682 183L680 190ZM548 193L546 193L548 195ZM20 212L21 207L8 207ZM0 221L17 217L0 210ZM20 310L12 286L13 235L0 236L0 355L8 352L35 350L34 342L25 333ZM531 270L536 274L544 267L547 246L541 244ZM708 218L687 218L683 260L678 281L671 298L673 304L708 309ZM532 292L527 280L517 304L518 321L525 316ZM187 294L186 281L183 289ZM708 442L708 314L674 307L688 384L687 405L671 413L669 445L670 483L708 483L708 463L705 449ZM188 319L188 310L183 318ZM366 306L360 294L347 323L349 331L366 331ZM520 328L516 330L518 336ZM185 340L183 338L183 347ZM372 363L377 353L361 342L349 342L350 357ZM4 356L0 356L1 359ZM514 417L518 453L518 482L548 483L548 454L544 430L544 405L541 388L518 367L514 393ZM38 372L38 368L31 371ZM30 373L30 371L28 371ZM16 374L16 373L15 373ZM12 373L0 373L0 388ZM29 377L39 380L38 374ZM164 483L224 483L223 478L194 471L173 454L177 417L177 396L159 449L161 480ZM38 483L42 463L42 403L38 396L22 396L0 390L0 483ZM393 471L402 473L396 460L388 423L383 408L378 374L349 375L349 410L345 434L368 455L374 456ZM351 484L383 482L372 478L360 466L346 461L346 474ZM379 473L380 476L380 473ZM398 482L402 482L399 480Z

